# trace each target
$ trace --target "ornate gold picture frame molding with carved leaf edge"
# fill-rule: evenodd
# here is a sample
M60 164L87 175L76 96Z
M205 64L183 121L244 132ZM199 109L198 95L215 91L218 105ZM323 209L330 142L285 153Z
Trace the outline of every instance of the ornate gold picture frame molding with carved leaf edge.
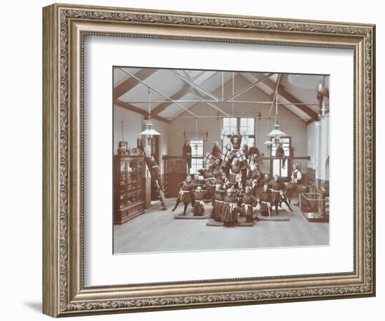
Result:
M354 53L352 273L85 287L87 34L349 48ZM53 4L43 8L43 313L52 317L375 295L375 26Z

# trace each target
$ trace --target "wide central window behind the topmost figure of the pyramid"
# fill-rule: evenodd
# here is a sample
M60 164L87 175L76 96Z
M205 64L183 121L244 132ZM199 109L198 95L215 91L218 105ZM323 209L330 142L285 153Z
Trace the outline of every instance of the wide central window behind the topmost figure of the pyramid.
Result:
M255 119L254 118L237 118L237 117L226 117L222 118L222 130L226 135L232 135L234 132L242 135L242 144L248 144L253 146L255 142ZM229 137L222 138L222 148L226 144L230 143Z

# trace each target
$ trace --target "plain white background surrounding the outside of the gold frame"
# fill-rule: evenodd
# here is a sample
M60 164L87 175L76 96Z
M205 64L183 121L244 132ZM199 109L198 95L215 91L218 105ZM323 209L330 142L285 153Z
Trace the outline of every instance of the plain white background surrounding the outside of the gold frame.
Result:
M1 51L1 301L3 320L52 320L41 310L41 7L53 1L4 1ZM381 1L66 0L234 15L377 23L377 297L332 301L97 315L71 320L381 320L384 313L385 20ZM17 21L17 23L15 23ZM21 94L22 88L22 94ZM381 95L382 94L382 95ZM382 126L382 127L381 127ZM20 150L22 144L22 151ZM382 178L382 179L381 179ZM22 190L20 189L22 187ZM258 262L256 262L258 264ZM381 267L381 268L380 268Z

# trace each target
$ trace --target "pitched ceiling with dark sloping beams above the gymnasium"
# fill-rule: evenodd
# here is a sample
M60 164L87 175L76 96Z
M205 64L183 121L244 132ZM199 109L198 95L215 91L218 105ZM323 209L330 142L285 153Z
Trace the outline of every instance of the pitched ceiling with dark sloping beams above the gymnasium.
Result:
M116 67L113 73L114 100L120 106L129 106L134 111L146 114L150 87L152 116L158 116L160 120L172 120L186 111L194 116L190 109L197 101L221 100L223 85L232 85L232 77L238 75L245 78L249 85L237 88L235 84L235 93L253 86L265 95L274 93L278 74ZM313 121L318 112L317 88L322 79L322 75L282 74L278 101L303 121ZM328 77L325 79L325 86L328 88ZM239 97L240 95L238 99ZM194 102L188 102L191 100ZM328 104L328 100L326 103ZM225 116L217 103L210 105Z

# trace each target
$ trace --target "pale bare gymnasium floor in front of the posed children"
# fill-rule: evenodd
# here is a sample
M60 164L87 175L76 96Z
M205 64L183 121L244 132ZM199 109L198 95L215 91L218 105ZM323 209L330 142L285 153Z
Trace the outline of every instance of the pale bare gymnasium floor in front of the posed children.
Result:
M113 252L144 253L196 250L231 250L258 247L302 247L329 244L329 224L309 223L293 206L290 221L258 221L253 227L206 226L206 219L174 219L183 204L172 212L175 199L167 199L168 210L155 203L146 213L113 227ZM295 200L294 202L295 203ZM211 204L206 204L207 213ZM188 211L192 211L189 207Z

